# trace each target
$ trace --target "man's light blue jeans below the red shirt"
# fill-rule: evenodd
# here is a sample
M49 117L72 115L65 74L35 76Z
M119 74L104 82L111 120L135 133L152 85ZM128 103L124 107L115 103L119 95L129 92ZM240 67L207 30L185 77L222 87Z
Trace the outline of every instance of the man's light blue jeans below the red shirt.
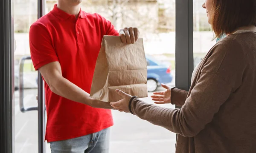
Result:
M52 153L109 153L110 128L57 142L50 142Z

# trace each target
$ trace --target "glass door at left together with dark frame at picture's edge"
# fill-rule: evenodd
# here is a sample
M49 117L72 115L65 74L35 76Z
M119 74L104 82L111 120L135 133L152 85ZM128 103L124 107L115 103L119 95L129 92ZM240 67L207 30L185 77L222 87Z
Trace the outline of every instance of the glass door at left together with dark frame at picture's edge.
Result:
M29 27L44 13L44 1L0 3L0 152L44 153L43 83L29 56Z

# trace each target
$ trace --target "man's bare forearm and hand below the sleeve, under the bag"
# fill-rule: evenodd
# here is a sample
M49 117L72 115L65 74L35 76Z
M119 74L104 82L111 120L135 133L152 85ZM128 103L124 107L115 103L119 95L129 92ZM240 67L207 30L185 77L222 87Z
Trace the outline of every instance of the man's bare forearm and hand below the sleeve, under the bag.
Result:
M95 108L112 109L108 102L100 102L96 99L90 98L90 94L62 77L61 65L59 62L46 64L39 68L39 71L53 93L74 102L80 102Z

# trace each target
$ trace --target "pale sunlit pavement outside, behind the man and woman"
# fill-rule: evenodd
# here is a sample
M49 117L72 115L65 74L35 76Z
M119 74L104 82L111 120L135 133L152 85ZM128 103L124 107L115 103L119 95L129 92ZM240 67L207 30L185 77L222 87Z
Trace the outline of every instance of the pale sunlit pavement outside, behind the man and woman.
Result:
M163 91L159 88L158 91ZM24 92L26 107L37 105L37 89ZM148 93L151 96L152 93ZM15 153L38 153L38 115L37 111L21 113L19 94L15 92ZM153 104L151 98L145 102ZM162 107L174 108L166 104ZM163 127L139 119L130 113L112 111L114 126L111 127L110 153L175 153L175 133ZM46 153L50 153L49 144Z

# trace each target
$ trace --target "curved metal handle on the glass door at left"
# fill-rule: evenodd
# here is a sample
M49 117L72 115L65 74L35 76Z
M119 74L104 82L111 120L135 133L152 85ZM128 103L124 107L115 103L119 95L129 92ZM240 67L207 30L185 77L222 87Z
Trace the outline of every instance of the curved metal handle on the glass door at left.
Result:
M24 72L24 62L25 60L31 59L30 56L21 57L19 65L19 93L20 93L20 111L25 113L26 111L37 111L38 107L24 107L24 82L23 82L23 72Z

